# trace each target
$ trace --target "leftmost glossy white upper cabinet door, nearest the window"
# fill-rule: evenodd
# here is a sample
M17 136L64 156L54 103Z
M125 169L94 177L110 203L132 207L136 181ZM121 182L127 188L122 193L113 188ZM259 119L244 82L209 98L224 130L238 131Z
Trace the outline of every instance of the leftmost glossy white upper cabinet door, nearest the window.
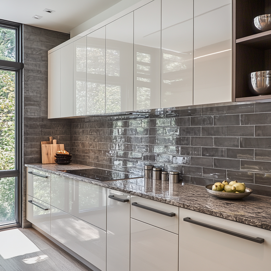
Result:
M60 49L48 55L48 118L60 117Z

